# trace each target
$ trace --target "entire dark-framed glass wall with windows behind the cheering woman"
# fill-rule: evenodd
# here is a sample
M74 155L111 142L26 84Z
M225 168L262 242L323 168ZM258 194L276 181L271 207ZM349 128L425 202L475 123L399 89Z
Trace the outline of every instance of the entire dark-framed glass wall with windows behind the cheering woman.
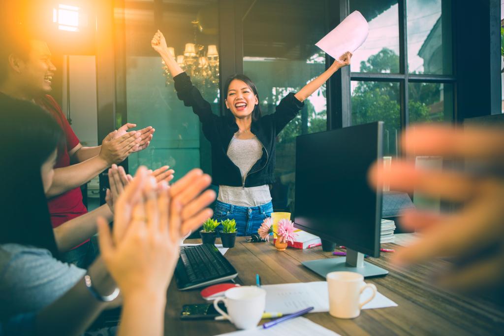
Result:
M383 120L385 155L396 156L400 133L410 123L455 120L452 0L336 3L116 2L115 43L121 50L115 60L116 126L127 120L156 128L150 147L130 156L130 174L140 164L153 169L168 164L176 179L193 167L211 174L210 144L199 120L178 100L173 81L167 80L161 59L150 47L157 29L163 31L215 114L223 113L219 87L233 72L242 72L256 83L263 114L270 114L288 92L299 90L330 65L314 44L334 28L337 19L358 10L368 21L369 36L354 53L350 71L336 76L336 81L348 85L335 89L331 84L331 91L324 85L277 137L277 183L271 186L277 211L293 210L296 136L324 131L328 124L338 127L334 120L340 118L349 120L342 123L345 126ZM339 101L335 90L348 103Z

